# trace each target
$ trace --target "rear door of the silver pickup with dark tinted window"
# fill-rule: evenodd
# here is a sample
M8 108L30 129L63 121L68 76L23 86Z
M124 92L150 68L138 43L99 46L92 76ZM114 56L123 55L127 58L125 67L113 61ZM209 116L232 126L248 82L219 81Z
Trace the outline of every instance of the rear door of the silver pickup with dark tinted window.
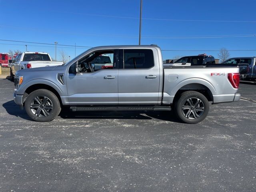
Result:
M158 104L160 69L157 55L155 48L120 50L119 104Z

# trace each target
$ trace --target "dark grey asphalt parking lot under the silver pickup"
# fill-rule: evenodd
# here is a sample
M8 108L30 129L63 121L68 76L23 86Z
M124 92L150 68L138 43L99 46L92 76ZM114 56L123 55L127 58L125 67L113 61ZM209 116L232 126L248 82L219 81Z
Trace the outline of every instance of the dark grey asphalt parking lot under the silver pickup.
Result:
M166 112L33 122L0 79L0 191L256 191L256 84L182 124Z

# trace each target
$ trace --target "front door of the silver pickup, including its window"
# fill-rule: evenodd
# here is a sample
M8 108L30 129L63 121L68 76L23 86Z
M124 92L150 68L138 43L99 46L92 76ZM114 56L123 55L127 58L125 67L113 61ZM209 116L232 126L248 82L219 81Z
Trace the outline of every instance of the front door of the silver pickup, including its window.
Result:
M108 67L106 60L100 57L109 56ZM79 73L72 73L75 63L70 66L66 76L68 100L70 105L118 104L118 66L114 50L102 50L90 53L78 61ZM102 66L98 70L91 62L97 60ZM110 63L111 62L111 63ZM91 65L91 68L90 68ZM95 67L94 67L95 68Z

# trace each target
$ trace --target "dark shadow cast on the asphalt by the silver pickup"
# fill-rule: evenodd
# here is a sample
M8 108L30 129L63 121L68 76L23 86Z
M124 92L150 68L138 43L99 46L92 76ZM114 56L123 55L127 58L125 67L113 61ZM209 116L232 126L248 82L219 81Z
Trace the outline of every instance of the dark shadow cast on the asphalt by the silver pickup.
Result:
M14 100L8 101L2 105L6 112L12 116L20 117L25 120L32 119L26 114L25 109L21 110L20 107L15 104ZM71 112L68 108L62 109L58 115L63 119L158 119L171 122L180 122L172 112L145 112L145 111L84 111L84 112ZM58 118L58 117L57 117Z

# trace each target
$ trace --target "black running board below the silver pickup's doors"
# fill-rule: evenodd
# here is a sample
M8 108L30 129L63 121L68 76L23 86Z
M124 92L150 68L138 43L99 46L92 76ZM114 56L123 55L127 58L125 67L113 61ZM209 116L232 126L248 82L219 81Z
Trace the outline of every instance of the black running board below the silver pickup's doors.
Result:
M170 111L170 106L108 106L108 107L78 107L71 106L71 111Z

